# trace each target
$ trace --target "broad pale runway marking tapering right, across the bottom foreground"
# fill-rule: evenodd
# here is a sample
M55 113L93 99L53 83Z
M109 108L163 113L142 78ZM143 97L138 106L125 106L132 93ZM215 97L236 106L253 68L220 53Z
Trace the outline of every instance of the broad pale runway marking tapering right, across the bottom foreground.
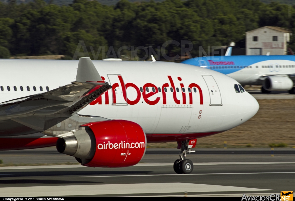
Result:
M188 183L148 184L95 184L70 186L34 186L0 188L0 196L66 196L66 195L111 195L142 193L184 193L186 192L232 192L232 191L275 191L233 186Z

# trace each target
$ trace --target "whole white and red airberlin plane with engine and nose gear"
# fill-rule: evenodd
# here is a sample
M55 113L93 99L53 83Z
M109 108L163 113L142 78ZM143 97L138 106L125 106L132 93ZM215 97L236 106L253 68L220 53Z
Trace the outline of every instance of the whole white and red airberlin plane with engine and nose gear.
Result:
M1 59L0 70L0 150L56 145L89 167L132 166L147 142L176 141L174 170L189 174L197 138L259 109L234 79L180 63Z

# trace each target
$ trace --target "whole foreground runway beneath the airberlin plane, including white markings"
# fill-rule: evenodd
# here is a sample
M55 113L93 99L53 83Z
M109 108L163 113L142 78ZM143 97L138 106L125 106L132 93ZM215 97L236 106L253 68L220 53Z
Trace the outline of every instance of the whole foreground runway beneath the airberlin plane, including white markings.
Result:
M126 168L81 165L0 167L0 196L242 196L295 191L295 148L209 149L187 155L194 171L178 175L179 150L148 148L142 161ZM4 158L6 157L6 158ZM75 162L54 147L1 151L17 162Z

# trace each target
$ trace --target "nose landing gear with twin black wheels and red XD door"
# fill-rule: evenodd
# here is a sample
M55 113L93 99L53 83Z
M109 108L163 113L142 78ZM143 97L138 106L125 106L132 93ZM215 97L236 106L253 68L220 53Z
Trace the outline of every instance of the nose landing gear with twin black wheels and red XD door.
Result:
M191 162L189 159L186 159L186 154L196 152L191 150L191 148L196 146L196 142L196 139L178 142L177 148L181 149L179 153L180 159L177 159L173 164L173 169L177 174L191 174L193 171L193 162Z

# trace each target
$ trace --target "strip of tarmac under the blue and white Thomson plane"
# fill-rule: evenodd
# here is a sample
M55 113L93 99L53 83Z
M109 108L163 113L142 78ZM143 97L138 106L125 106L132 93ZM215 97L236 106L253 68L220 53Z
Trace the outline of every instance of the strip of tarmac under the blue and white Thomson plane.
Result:
M270 94L263 94L261 90L246 90L255 99L295 99L295 94L289 94L288 91L271 91Z

